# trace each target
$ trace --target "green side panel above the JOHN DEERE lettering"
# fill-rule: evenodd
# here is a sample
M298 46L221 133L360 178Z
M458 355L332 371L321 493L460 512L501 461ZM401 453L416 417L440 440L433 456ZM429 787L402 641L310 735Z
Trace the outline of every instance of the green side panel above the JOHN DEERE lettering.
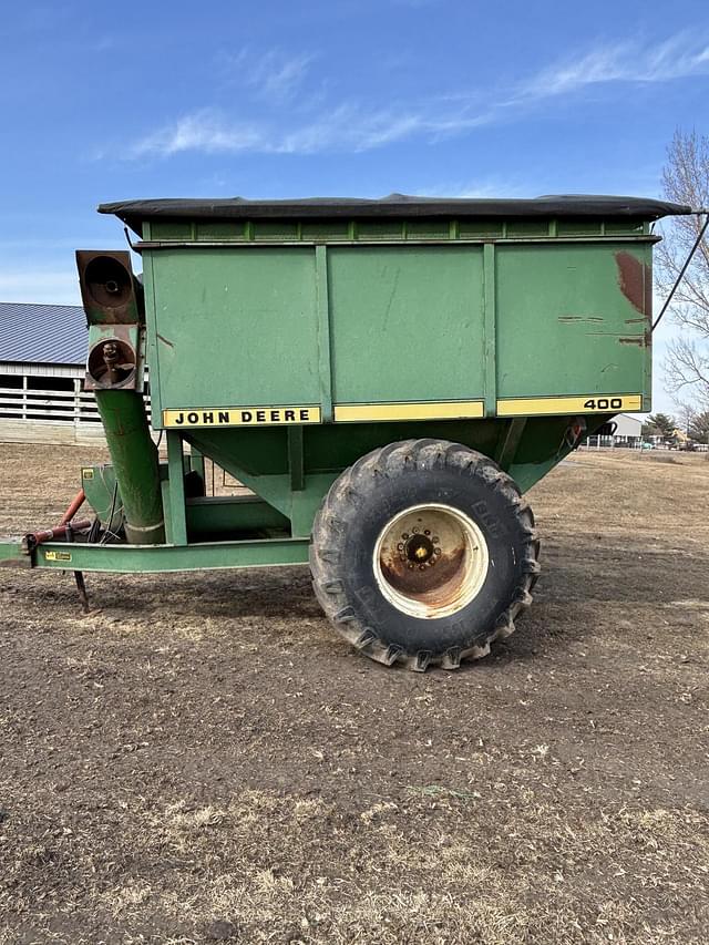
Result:
M320 402L312 249L152 256L158 410Z

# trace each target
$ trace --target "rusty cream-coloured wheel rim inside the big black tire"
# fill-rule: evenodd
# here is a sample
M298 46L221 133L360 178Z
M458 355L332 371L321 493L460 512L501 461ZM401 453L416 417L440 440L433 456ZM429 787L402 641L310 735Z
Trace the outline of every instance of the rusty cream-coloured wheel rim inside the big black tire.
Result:
M382 528L373 554L383 596L412 617L456 614L480 593L490 556L484 535L450 505L413 505Z

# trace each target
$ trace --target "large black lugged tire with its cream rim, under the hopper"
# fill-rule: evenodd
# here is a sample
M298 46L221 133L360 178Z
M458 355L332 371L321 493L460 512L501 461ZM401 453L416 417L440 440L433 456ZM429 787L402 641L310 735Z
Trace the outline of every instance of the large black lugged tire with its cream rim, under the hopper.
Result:
M407 440L335 481L314 524L310 569L336 630L366 656L454 669L514 630L538 551L532 510L491 459Z

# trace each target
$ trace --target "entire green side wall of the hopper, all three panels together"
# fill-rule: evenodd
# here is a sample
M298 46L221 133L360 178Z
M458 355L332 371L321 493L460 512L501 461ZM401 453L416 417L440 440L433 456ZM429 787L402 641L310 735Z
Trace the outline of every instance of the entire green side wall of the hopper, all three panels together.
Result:
M494 236L473 242L473 224ZM333 403L484 400L493 417L501 398L643 393L649 407L654 238L637 223L606 236L595 220L359 222L347 245L345 224L309 226L199 223L179 247L146 244L155 425L165 408L320 404L328 423ZM298 245L306 230L330 245ZM363 242L377 238L391 242Z

